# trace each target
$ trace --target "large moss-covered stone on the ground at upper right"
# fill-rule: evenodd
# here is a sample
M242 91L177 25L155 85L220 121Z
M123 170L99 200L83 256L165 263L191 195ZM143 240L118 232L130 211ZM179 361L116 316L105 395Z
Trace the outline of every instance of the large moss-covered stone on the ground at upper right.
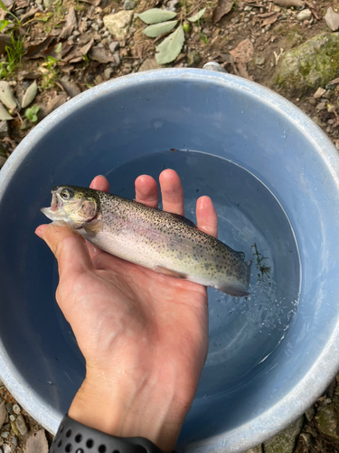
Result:
M316 34L285 53L278 65L276 82L300 97L332 81L339 72L339 33Z

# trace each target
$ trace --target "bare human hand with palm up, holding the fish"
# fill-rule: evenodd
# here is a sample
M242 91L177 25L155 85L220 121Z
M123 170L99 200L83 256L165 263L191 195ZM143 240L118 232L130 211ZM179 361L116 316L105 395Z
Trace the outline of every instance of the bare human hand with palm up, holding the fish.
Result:
M164 210L184 215L180 178L166 169L159 180ZM109 190L101 176L90 187ZM155 179L137 178L136 200L157 207ZM210 198L198 199L196 217L199 229L217 235ZM206 288L109 255L67 224L39 226L36 234L58 260L56 299L86 360L69 416L172 450L206 359Z

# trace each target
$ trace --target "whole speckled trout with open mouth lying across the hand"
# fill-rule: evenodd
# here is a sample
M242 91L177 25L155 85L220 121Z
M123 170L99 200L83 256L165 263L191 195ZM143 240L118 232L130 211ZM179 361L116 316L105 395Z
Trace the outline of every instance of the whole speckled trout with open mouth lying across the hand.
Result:
M92 188L58 186L42 213L63 220L111 255L223 293L249 295L245 254L200 231L186 217Z

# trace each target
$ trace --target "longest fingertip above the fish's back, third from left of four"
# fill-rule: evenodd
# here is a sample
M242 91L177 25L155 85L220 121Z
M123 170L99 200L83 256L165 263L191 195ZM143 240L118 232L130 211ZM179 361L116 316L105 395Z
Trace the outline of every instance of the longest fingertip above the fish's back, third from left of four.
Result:
M163 209L184 216L184 189L176 171L165 169L159 176Z

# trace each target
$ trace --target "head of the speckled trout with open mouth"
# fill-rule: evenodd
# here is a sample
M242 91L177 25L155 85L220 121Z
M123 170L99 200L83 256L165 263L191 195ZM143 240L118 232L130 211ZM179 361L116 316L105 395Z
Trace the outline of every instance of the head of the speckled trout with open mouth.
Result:
M74 186L58 186L52 189L51 207L42 207L42 213L51 220L63 220L80 229L98 217L99 198L94 190Z

